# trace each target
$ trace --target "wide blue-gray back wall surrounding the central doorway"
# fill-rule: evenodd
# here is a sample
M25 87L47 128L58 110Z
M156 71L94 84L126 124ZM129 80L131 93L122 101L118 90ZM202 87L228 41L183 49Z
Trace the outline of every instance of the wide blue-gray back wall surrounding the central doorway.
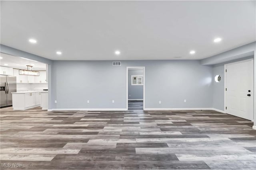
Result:
M212 66L196 60L121 62L54 61L49 109L126 108L126 66L146 67L146 108L212 107Z

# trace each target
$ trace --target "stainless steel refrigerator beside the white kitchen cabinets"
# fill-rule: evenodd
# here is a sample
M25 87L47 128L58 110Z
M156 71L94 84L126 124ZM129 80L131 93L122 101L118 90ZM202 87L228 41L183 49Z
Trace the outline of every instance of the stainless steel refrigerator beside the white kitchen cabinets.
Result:
M12 92L16 89L16 77L0 75L0 107L12 106Z

